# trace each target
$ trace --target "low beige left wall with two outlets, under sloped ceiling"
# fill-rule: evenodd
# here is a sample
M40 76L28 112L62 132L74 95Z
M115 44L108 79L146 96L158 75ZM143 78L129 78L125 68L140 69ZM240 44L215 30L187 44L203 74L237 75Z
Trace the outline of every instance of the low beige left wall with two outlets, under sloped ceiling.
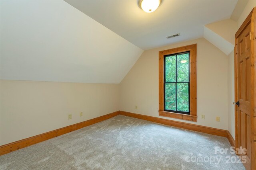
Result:
M0 88L0 145L118 111L119 84L0 80Z

